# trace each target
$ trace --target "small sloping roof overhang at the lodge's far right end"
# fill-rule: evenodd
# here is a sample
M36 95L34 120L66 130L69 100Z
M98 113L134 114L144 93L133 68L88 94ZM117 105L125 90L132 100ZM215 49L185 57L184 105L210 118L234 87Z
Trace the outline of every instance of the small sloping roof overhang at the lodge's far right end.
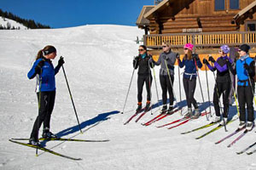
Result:
M256 11L256 1L249 4L246 8L241 9L241 11L233 17L233 20L236 21L236 24L240 24L241 21L247 19L247 16L245 17L245 15L249 13L253 14L255 13L255 11Z

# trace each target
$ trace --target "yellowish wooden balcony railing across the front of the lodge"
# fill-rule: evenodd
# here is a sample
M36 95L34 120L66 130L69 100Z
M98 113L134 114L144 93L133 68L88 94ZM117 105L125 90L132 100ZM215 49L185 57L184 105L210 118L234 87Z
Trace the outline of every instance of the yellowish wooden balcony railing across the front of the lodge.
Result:
M218 48L223 44L239 46L247 43L256 47L255 31L228 31L206 33L176 33L144 35L144 45L148 48L161 48L162 42L171 42L172 48L183 48L186 43L192 43L195 48Z

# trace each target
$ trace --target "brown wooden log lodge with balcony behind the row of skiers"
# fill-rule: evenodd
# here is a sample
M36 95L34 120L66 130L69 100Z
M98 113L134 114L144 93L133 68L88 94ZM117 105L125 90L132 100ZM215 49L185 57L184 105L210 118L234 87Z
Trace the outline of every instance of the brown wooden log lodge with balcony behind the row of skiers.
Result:
M155 55L165 41L181 54L187 42L198 54L218 54L223 44L242 43L256 54L256 0L163 0L143 6L137 26L145 30L143 43Z

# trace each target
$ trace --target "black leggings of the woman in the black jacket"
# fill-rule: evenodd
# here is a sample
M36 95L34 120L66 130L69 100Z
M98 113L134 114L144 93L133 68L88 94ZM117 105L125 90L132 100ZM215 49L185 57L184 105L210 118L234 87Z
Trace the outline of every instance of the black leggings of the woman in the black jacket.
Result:
M137 77L137 101L142 102L143 101L143 86L144 82L146 83L146 88L147 88L147 100L150 101L151 99L151 94L150 94L150 88L152 84L152 76L140 76L138 75Z

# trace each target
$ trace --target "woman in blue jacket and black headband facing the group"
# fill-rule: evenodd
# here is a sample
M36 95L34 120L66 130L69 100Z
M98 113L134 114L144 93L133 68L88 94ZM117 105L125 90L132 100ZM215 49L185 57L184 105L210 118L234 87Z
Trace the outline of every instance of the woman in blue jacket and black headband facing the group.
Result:
M61 57L58 65L54 68L51 59L56 57L56 48L46 46L38 51L36 61L32 65L32 69L27 73L27 77L32 79L37 77L37 95L38 95L38 117L34 122L29 143L40 145L38 141L38 131L44 122L43 135L44 139L56 138L54 133L49 131L50 116L55 105L55 75L60 71L64 59Z

